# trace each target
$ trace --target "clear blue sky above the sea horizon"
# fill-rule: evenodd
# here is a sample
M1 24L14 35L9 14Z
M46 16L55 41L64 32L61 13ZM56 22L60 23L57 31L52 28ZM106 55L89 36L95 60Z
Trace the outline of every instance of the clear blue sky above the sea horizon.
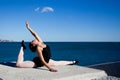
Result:
M120 42L119 0L0 0L0 39Z

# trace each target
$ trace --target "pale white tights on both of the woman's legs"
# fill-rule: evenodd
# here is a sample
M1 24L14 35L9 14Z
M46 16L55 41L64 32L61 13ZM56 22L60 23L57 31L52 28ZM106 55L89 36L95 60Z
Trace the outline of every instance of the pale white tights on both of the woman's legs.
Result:
M73 61L55 61L50 59L48 62L48 65L68 65L68 64L72 64ZM19 68L33 68L35 67L35 63L33 61L24 61L24 50L23 47L20 48L20 52L18 54L18 59L16 62L16 67Z

